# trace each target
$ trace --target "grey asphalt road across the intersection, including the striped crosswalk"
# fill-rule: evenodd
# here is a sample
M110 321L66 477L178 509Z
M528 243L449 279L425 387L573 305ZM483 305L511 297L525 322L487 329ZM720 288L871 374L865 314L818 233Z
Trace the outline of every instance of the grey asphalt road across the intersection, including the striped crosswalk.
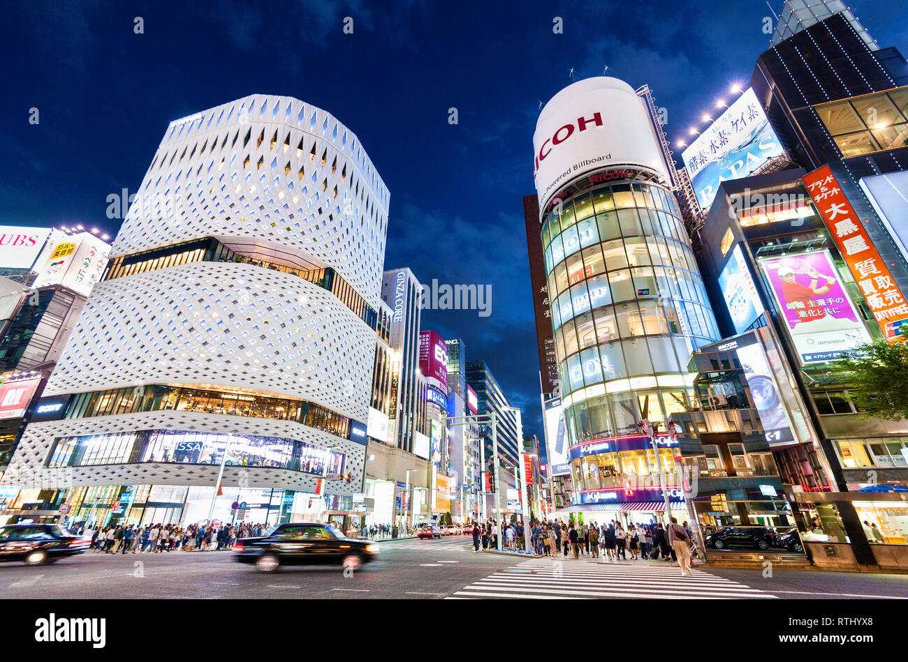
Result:
M0 564L5 599L901 598L908 575L695 569L664 561L523 560L473 553L469 537L381 542L380 560L345 577L337 567L261 574L230 551L110 555L52 565Z

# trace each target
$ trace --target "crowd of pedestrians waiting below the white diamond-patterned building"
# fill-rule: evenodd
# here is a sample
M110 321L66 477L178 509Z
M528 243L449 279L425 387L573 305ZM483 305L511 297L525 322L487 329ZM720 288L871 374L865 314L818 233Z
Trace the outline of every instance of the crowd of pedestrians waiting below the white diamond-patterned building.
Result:
M78 534L92 540L89 550L105 554L163 551L230 550L238 538L262 536L265 524L225 526L189 524L112 524L103 529L84 527Z

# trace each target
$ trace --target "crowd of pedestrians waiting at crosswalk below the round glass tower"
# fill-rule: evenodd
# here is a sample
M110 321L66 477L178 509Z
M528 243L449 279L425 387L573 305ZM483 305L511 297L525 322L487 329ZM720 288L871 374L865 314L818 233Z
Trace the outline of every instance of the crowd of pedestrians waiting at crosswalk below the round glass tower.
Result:
M524 547L524 530L521 523L508 524L503 532L503 548L519 551ZM475 524L473 551L497 549L495 524ZM677 562L682 574L690 570L694 537L687 522L678 524L676 518L664 527L661 523L628 524L627 529L618 521L599 524L581 524L565 521L533 521L530 524L530 544L538 557L588 556L603 562L620 560L666 560ZM628 557L629 555L629 557Z

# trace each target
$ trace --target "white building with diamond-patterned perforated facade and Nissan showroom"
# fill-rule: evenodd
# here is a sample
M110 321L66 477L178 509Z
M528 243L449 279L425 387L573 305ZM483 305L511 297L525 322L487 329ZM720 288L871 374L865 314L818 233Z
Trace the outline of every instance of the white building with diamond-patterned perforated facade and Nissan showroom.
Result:
M311 104L252 95L171 122L44 390L64 406L4 481L72 522L343 521L388 203Z

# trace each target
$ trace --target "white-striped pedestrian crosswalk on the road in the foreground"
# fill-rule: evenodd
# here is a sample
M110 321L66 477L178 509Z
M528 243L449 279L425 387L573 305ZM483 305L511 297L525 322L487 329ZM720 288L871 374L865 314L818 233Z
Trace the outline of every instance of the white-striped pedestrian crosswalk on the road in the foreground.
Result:
M449 599L775 598L703 570L693 572L684 577L675 564L534 559L479 579Z

